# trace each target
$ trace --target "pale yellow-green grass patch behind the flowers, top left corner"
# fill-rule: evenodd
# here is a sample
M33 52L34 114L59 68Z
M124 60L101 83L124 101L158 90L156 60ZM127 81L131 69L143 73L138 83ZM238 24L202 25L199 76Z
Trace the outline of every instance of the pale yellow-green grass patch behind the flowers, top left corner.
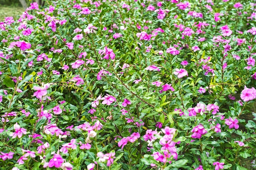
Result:
M22 7L0 5L0 22L4 21L4 17L13 17L14 19L18 19L22 12L24 12Z

